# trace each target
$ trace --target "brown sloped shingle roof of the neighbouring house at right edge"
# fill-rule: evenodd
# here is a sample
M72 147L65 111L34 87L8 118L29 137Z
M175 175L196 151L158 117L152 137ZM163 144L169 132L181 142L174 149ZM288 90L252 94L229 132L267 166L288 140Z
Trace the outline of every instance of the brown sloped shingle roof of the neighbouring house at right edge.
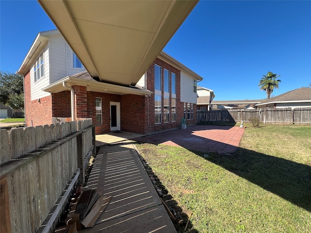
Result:
M256 106L272 103L293 103L293 102L311 102L311 88L301 87L276 97L266 99L256 104Z

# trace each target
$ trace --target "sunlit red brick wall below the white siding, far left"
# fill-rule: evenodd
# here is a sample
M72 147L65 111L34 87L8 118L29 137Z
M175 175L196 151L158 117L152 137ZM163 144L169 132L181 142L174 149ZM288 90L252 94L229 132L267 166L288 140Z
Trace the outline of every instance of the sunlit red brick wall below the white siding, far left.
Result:
M25 124L26 126L52 123L52 97L31 100L30 71L24 75Z

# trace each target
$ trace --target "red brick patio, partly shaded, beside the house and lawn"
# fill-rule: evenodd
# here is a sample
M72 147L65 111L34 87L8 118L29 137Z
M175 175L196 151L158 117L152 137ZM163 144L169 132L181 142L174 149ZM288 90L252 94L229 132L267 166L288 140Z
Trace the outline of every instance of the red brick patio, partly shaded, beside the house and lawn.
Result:
M243 133L244 128L237 126L192 125L185 130L170 130L164 133L134 138L133 140L203 152L228 154L233 153L239 147Z

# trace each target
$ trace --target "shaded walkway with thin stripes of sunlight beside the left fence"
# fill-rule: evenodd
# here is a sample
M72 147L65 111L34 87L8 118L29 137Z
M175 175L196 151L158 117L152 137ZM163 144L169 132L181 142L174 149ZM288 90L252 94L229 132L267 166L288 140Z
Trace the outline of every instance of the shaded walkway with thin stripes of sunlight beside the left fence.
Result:
M99 150L87 186L112 195L95 226L81 233L176 233L131 142Z

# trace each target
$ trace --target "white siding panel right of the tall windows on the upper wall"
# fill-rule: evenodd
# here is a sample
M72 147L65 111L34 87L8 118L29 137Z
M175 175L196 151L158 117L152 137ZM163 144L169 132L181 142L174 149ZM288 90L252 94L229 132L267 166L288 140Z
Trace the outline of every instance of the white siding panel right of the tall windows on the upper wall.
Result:
M180 72L180 101L196 103L197 93L193 92L193 79L184 72Z

